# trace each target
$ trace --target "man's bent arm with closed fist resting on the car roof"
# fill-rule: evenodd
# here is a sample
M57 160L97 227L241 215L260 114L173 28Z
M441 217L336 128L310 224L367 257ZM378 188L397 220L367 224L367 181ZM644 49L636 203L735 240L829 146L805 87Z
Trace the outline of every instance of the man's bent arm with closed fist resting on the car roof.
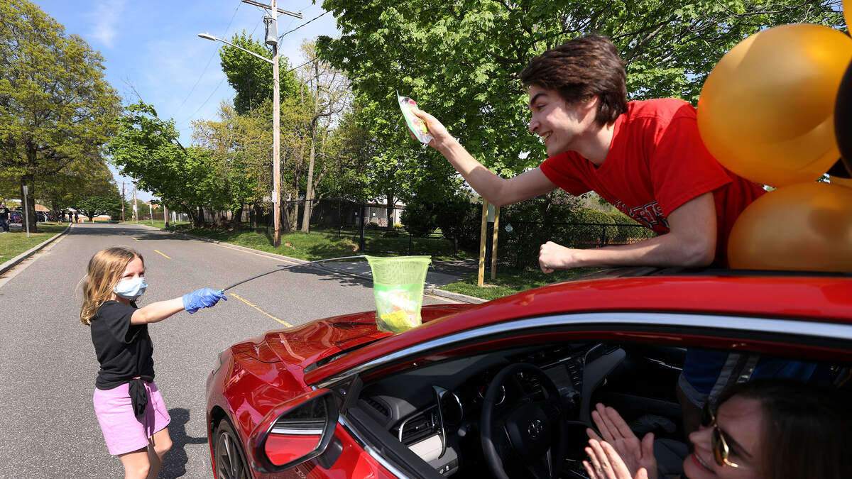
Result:
M713 193L690 199L668 216L670 231L632 245L575 250L548 241L538 265L544 273L588 266L707 266L716 257Z

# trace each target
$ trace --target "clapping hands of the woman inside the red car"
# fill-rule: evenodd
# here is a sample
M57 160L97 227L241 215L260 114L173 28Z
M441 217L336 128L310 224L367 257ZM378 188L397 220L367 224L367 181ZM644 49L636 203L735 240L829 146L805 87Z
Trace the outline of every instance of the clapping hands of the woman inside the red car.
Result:
M597 429L601 431L601 436L598 436L594 430L586 430L586 434L591 438L589 441L591 447L586 448L586 453L591 452L590 458L597 460L598 464L612 466L609 470L613 473L617 469L615 468L616 463L623 465L624 470L627 471L627 476L601 476L598 474L593 477L650 477L656 479L657 459L653 457L653 433L649 432L642 438L642 441L639 441L639 438L630 430L630 426L627 425L624 418L621 418L618 411L612 407L604 407L602 404L598 404L596 410L592 411L591 418L595 421ZM593 443L597 443L597 447ZM611 453L607 453L607 447L612 449ZM592 465L594 465L594 460Z

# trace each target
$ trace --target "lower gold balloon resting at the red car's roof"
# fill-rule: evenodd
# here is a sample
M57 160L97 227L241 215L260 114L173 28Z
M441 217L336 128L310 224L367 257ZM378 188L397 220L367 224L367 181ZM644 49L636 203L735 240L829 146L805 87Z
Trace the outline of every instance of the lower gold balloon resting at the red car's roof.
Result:
M728 237L738 269L852 271L852 189L800 183L756 199Z

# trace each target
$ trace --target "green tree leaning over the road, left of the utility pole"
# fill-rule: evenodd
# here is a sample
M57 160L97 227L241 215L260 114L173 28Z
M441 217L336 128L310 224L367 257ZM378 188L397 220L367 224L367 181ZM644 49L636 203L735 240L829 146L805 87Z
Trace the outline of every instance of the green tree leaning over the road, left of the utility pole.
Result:
M154 107L143 102L127 107L116 124L118 132L107 151L119 172L163 199L170 210L187 213L194 226L203 226L196 208L209 205L220 191L210 151L184 148L174 120L160 119Z

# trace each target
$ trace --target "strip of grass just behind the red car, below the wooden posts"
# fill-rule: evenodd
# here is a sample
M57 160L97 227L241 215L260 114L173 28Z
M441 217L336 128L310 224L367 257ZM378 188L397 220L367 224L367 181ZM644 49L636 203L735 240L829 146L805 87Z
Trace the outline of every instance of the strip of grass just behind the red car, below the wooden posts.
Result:
M600 268L574 268L567 271L554 271L544 274L538 268L514 269L498 268L497 278L491 279L491 274L486 271L486 286L477 286L477 275L469 274L463 281L442 286L445 291L458 292L472 297L482 299L497 299L520 291L537 288L538 286L550 285L560 281L571 280L580 274L597 271Z

